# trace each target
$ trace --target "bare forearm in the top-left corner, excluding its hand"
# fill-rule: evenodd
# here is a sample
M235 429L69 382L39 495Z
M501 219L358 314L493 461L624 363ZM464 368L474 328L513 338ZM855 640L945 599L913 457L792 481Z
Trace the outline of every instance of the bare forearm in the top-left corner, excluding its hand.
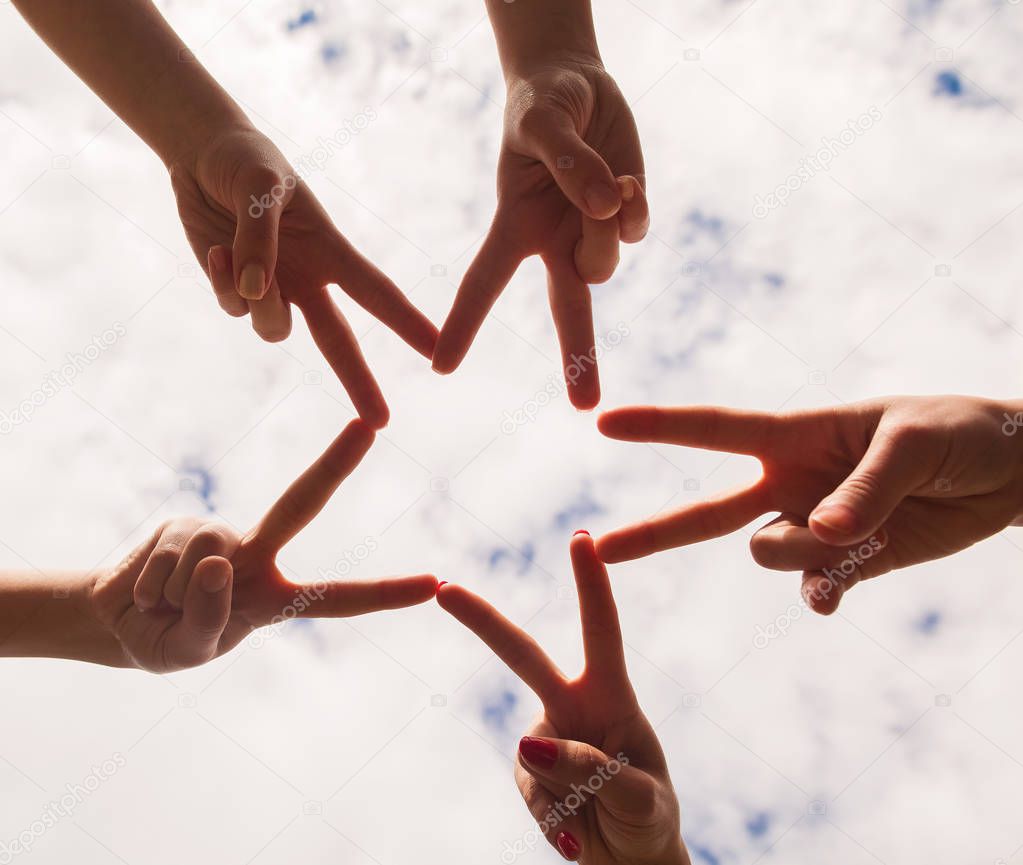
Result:
M13 0L47 45L168 165L248 123L148 0Z

